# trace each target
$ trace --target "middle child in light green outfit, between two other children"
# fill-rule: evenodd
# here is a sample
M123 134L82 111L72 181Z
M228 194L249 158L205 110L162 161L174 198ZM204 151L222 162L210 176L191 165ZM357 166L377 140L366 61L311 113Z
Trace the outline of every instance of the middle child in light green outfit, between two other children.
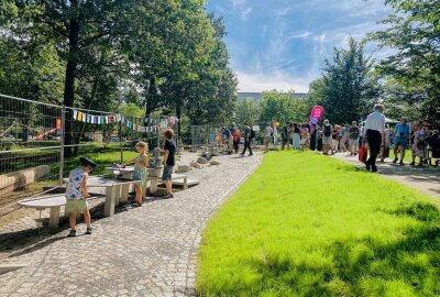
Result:
M122 163L122 166L128 164L134 164L134 173L133 173L133 180L141 180L142 184L134 185L135 191L135 206L142 207L142 188L146 180L146 165L148 164L148 145L145 142L138 142L136 152L139 153L138 157Z

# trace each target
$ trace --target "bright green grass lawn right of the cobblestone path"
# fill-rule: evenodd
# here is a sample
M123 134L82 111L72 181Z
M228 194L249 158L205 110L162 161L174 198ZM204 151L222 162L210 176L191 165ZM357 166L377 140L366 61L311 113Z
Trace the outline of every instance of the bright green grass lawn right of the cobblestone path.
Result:
M439 200L311 152L266 154L208 224L197 289L439 296Z

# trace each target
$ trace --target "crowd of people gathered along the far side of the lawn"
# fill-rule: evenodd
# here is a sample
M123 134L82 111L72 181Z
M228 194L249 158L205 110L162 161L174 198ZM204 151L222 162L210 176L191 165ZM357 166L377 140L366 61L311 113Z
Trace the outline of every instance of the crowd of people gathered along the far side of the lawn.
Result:
M326 155L346 152L350 156L356 156L360 148L365 146L370 150L365 166L373 172L377 169L376 160L385 162L391 151L394 153L393 163L396 164L405 165L407 150L411 151L410 165L424 166L431 160L436 160L436 165L439 164L438 130L433 130L426 120L408 123L405 118L391 127L383 112L383 106L377 105L361 124L356 121L351 124L331 124L327 119L319 127L310 122L287 121L283 127L277 122L268 122L262 131L262 143L265 151L270 151L271 145L280 145L282 150L312 150ZM228 144L228 154L239 153L240 143L243 143L241 154L244 155L249 150L252 155L251 143L254 138L255 132L249 123L244 123L243 132L233 123L231 128L221 128L217 140Z

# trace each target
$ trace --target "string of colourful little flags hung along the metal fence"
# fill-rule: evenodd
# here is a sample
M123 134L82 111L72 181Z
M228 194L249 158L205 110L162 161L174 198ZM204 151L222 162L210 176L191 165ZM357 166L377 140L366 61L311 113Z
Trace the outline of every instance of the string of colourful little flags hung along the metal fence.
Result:
M78 110L74 110L74 120L84 122L84 123L91 123L91 124L111 124L111 123L119 123L121 122L124 124L127 128L138 131L138 132L156 132L157 130L161 130L162 128L167 128L168 124L176 124L178 122L178 119L176 117L169 117L167 119L143 119L144 124L148 125L139 125L121 114L107 114L107 116L95 116L95 114L89 114L85 113Z

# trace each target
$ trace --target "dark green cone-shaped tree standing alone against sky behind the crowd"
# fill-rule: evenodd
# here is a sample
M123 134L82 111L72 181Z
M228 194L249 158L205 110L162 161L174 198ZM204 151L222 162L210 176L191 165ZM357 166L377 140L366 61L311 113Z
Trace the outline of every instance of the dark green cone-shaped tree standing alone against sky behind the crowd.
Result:
M324 109L332 122L346 123L365 117L381 95L372 76L373 62L353 37L348 48L334 47L333 58L324 61L322 76L310 85L310 98Z

